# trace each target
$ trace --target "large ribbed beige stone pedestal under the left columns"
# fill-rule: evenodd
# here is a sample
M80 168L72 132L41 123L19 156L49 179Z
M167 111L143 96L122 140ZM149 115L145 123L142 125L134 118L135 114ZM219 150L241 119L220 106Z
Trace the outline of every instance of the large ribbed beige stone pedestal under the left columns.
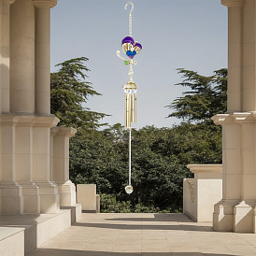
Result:
M50 179L50 127L54 116L1 116L2 214L59 211L58 186Z

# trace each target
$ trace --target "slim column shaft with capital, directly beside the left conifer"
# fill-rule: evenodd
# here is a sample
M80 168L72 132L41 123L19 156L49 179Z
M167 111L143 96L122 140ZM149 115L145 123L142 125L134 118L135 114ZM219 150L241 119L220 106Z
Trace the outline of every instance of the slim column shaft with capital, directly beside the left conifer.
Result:
M57 0L34 0L36 7L36 114L50 114L50 8Z

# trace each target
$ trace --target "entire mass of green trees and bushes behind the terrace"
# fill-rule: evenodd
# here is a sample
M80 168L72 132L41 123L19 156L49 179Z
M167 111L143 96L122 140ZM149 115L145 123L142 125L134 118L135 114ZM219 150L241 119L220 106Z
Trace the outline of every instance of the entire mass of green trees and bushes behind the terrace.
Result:
M75 184L96 184L103 212L180 212L183 178L192 175L186 165L221 163L221 129L211 125L210 118L226 109L226 69L212 77L179 69L185 79L178 85L192 91L183 92L169 106L176 110L169 117L187 121L171 128L133 130L134 192L128 195L124 187L129 135L120 123L97 129L106 114L83 107L90 95L100 95L85 81L87 60L58 64L59 71L51 74L51 112L61 125L78 129L70 139L70 179Z

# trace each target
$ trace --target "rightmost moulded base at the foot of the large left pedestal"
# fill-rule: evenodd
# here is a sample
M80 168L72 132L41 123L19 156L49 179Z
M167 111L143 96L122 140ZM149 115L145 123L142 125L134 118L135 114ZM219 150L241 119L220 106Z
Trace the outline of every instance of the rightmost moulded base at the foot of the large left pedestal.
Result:
M60 195L58 186L51 181L38 181L40 195L40 213L57 213L60 211Z

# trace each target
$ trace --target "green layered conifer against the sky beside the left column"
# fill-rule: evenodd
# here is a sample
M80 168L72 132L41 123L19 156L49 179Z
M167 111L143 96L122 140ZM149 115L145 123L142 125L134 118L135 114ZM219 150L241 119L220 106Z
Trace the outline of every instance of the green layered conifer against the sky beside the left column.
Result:
M78 130L98 127L104 113L83 107L91 95L101 95L92 89L85 72L90 71L80 57L57 64L59 70L50 74L50 111L60 119L59 125L72 126Z

